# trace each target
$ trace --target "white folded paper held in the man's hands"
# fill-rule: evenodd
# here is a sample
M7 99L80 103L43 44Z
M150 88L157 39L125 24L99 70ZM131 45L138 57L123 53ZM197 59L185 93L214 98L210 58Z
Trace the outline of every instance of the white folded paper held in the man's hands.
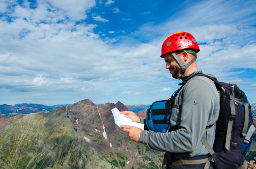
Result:
M119 114L119 110L116 107L114 109L112 109L111 112L113 113L113 116L115 119L115 124L118 127L120 127L121 125L127 125L127 126L138 127L140 129L144 130L144 124L134 122L134 121L132 121L132 119Z

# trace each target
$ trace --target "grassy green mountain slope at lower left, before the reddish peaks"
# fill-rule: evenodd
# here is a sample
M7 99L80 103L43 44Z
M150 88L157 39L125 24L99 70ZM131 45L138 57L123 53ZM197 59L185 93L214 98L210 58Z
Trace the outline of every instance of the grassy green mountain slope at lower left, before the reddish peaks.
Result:
M112 168L60 112L26 115L1 130L1 168Z

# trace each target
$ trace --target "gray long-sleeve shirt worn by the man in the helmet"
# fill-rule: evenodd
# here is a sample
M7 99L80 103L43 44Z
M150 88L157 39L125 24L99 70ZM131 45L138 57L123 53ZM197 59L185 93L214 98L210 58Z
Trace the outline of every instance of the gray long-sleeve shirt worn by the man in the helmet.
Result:
M178 104L179 96L182 95L182 108L171 109L170 127L177 130L168 133L144 130L140 133L141 143L151 149L166 152L168 159L172 153L175 153L175 158L208 154L201 143L202 136L211 146L214 144L215 125L209 129L206 127L215 124L218 119L220 97L214 82L209 78L191 78L197 73L202 71L194 71L182 77L182 81L187 83L174 99L174 104Z

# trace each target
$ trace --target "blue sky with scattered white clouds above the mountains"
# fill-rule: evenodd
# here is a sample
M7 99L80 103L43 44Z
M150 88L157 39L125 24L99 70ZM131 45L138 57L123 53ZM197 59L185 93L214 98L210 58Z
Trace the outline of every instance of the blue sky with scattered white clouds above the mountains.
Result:
M151 104L179 87L160 58L177 31L197 64L256 103L256 1L0 0L0 104Z

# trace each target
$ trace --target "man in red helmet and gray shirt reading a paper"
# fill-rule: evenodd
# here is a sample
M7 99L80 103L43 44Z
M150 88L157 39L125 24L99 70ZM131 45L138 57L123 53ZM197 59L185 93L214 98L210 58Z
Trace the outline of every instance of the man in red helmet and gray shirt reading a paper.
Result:
M130 139L147 144L165 153L167 169L209 168L209 152L201 142L202 136L210 146L214 144L215 122L219 113L219 93L214 82L204 76L196 65L198 43L187 32L169 36L162 45L161 57L173 78L182 79L182 87L173 98L170 130L166 133L121 126ZM176 105L176 106L174 106ZM179 105L179 106L177 106ZM120 112L135 122L145 123L133 112ZM212 165L210 166L212 168Z

